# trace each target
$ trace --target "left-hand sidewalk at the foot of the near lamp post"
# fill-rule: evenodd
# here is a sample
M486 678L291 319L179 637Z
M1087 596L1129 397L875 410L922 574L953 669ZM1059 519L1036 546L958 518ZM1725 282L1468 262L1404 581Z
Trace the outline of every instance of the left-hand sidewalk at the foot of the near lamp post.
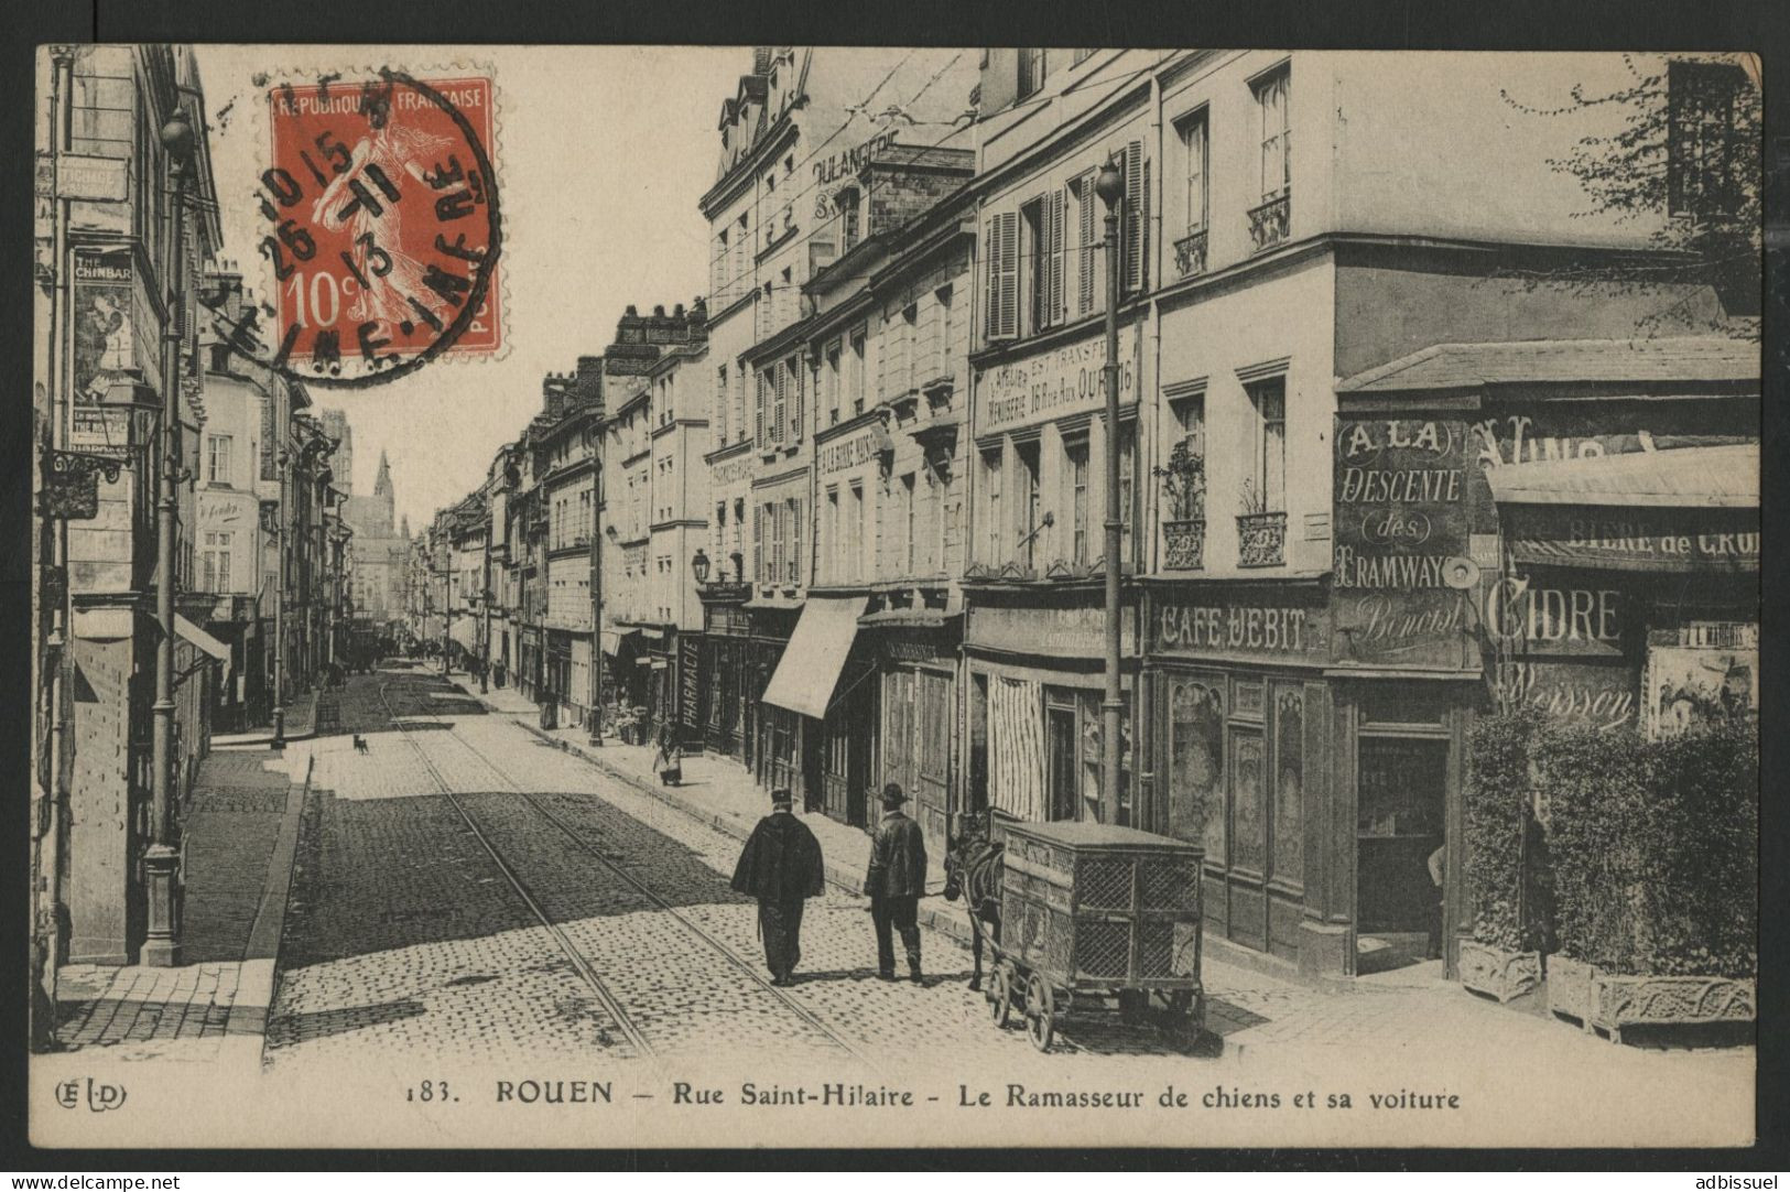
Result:
M61 1054L98 1047L127 1061L260 1065L308 789L308 755L200 762L183 838L186 963L61 968Z

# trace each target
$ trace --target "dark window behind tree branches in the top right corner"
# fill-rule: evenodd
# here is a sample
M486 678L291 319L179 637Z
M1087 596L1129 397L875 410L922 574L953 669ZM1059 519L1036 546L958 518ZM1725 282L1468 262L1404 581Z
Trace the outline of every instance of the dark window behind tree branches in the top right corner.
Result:
M1666 209L1672 215L1735 215L1745 158L1736 129L1745 73L1727 63L1666 66Z

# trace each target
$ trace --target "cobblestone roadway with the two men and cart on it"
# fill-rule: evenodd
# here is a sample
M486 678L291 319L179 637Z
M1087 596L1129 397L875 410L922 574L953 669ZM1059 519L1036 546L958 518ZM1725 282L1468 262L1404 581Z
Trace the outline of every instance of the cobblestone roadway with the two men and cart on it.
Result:
M1572 1054L1606 1076L1751 1069L1751 1051L1611 1047L1441 981L1335 993L1217 959L1205 966L1212 1034L1192 1054L1153 1027L1090 1015L1038 1056L1022 1031L990 1024L967 990L968 952L949 938L925 932L924 986L877 981L865 900L838 890L809 902L800 983L771 990L754 907L727 888L730 836L435 675L354 678L337 707L367 752L349 736L308 746L313 795L268 1024L276 1072L363 1063L371 1051L471 1063L652 1051L1061 1076L1110 1056L1384 1061L1461 1054L1461 1040L1484 1063Z

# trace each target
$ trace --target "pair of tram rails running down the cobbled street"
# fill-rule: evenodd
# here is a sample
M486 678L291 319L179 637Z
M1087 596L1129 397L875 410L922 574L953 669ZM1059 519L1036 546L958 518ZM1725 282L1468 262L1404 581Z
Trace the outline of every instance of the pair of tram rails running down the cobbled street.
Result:
M480 847L490 857L492 864L498 866L498 872L503 873L503 879L516 891L516 895L523 900L523 904L528 907L528 911L550 932L550 936L553 938L553 941L558 947L558 950L571 963L573 970L580 975L580 979L584 979L585 984L591 986L591 990L594 992L598 1002L603 1006L603 1011L610 1018L614 1018L618 1029L621 1029L621 1033L628 1038L630 1045L639 1054L643 1054L643 1056L657 1054L657 1049L653 1047L653 1042L648 1038L646 1031L641 1029L641 1026L628 1013L628 1009L623 1004L623 1000L603 981L603 977L598 972L596 965L592 965L591 959L589 959L589 956L585 956L585 952L566 934L566 931L558 924L553 922L553 916L546 911L546 907L541 906L541 902L535 898L535 895L528 890L526 882L517 873L516 866L503 856L503 852L498 848L498 845L492 843L490 836L480 827L478 820L471 814L471 811L467 811L465 804L455 795L455 791L453 791L451 784L448 782L446 775L442 773L440 766L435 762L435 759L431 759L428 755L428 752L422 748L422 745L415 739L413 730L410 727L406 727L406 723L401 719L399 712L392 707L392 700L390 700L388 685L387 684L379 685L379 700L385 705L385 711L387 711L387 716L390 718L392 727L399 732L399 736L405 737L405 743L410 745L410 748L417 754L417 759L422 762L422 768L430 773L430 779L440 789L442 796L448 798L448 804L455 809L455 813L460 816L460 820L465 822L467 829L473 832L473 838L480 843ZM498 777L498 780L501 784L501 788L498 788L498 789L501 789L507 795L514 795L517 800L521 800L523 804L526 804L530 811L533 811L537 816L541 816L550 825L553 825L575 848L578 848L580 852L587 854L607 873L610 873L612 877L616 877L618 881L621 881L625 886L628 886L630 890L634 890L639 897L646 898L653 907L657 907L659 911L666 913L673 922L677 922L691 936L695 936L703 945L707 945L712 952L716 952L721 959L725 959L734 970L737 970L741 975L745 975L752 984L755 984L759 990L763 990L764 993L768 993L777 1004L780 1004L789 1013L793 1013L797 1018L800 1018L809 1029L813 1029L814 1033L818 1033L831 1045L834 1045L840 1051L845 1051L847 1054L854 1056L861 1063L865 1063L865 1065L868 1065L872 1069L877 1067L875 1061L870 1056L866 1056L863 1051L859 1051L850 1040L843 1038L838 1031L834 1031L832 1027L829 1027L807 1006L804 1006L800 1000L793 999L782 988L773 986L763 974L759 974L757 966L748 958L739 956L734 949L730 949L727 943L723 943L721 940L718 940L712 932L705 931L700 924L693 922L687 915L684 915L682 911L678 911L677 906L673 906L668 898L664 898L662 895L659 895L659 891L655 891L652 886L648 886L646 882L643 882L639 877L635 877L634 873L630 873L626 868L616 864L616 861L612 861L596 843L592 843L587 836L584 836L582 832L578 832L578 829L575 829L571 823L567 823L562 816L558 816L557 813L553 813L548 807L544 807L541 804L541 800L537 800L528 791L521 789L503 771L503 768L498 762L494 762L490 757L487 757L485 752L480 750L476 745L473 745L471 741L467 741L451 723L446 725L446 734L440 734L440 736L451 737L462 750L465 750L467 754L471 754L480 764L483 764L487 770L490 770Z

